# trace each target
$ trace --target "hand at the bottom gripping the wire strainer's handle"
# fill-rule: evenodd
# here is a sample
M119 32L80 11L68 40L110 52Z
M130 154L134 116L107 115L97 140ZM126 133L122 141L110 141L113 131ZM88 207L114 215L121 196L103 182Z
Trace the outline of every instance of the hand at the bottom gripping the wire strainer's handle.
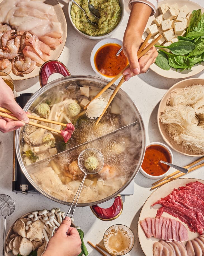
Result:
M81 252L81 239L77 229L70 227L71 219L65 217L51 237L43 256L77 256ZM67 232L68 230L68 232Z

